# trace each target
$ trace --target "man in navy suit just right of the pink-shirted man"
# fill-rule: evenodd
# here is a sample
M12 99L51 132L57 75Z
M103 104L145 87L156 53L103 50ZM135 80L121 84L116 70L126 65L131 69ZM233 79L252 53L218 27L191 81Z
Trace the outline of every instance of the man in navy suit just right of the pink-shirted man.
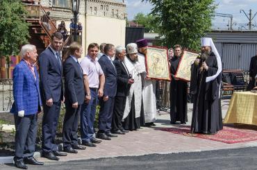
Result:
M110 137L117 137L117 135L110 133L114 100L117 91L117 74L115 65L111 58L115 54L115 47L113 44L106 44L104 47L104 55L99 59L99 64L106 77L106 82L103 87L103 97L99 100L99 131L97 137L100 139L110 140Z

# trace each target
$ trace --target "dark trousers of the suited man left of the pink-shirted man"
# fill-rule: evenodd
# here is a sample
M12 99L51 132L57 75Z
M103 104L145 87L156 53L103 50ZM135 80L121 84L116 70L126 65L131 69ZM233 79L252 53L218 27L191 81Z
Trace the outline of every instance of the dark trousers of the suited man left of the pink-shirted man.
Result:
M81 105L72 108L72 103L65 102L66 112L63 121L63 148L78 145L78 116L81 112Z

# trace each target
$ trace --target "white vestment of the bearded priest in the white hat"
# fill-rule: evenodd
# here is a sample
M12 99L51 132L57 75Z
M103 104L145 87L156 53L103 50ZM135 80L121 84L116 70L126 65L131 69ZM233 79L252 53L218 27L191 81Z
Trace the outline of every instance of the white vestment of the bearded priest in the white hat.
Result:
M124 59L124 64L128 69L129 74L134 78L134 83L131 85L128 96L126 96L126 106L123 114L122 120L128 117L131 111L131 101L134 94L135 100L135 118L140 117L141 112L141 101L142 101L142 78L141 78L141 66L139 62L131 62L127 57Z

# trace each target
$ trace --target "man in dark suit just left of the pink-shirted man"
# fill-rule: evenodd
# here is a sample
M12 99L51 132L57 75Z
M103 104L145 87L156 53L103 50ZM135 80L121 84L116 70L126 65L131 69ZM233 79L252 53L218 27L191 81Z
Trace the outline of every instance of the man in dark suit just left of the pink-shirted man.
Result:
M69 57L63 63L65 77L65 119L63 122L63 151L78 153L75 149L85 150L78 145L78 114L85 99L83 72L78 58L81 58L83 49L78 42L69 45Z

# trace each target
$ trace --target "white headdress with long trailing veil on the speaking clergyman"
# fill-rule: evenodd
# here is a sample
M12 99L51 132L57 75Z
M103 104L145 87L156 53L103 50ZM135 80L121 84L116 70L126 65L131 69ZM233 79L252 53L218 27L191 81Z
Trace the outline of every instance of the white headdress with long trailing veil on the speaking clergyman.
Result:
M216 46L210 37L201 37L201 46L210 46L217 58L217 73L213 76L206 77L206 83L207 83L217 78L217 76L219 76L219 74L222 72L222 59L220 58L219 53L217 52Z

